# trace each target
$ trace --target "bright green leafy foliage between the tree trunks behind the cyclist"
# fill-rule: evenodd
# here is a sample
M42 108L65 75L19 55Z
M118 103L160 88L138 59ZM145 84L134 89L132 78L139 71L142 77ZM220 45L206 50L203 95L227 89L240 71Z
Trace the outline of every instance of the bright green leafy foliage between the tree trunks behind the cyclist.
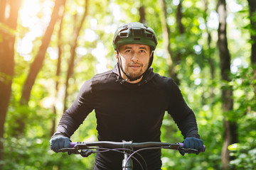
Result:
M46 27L46 15L51 1L39 1L38 13L34 12L33 20L41 20ZM176 22L177 1L166 0L166 19L171 30L171 50L174 55L181 55L181 61L176 65L178 79L183 96L198 121L198 130L201 139L206 145L206 152L198 155L187 154L182 157L178 152L162 150L163 169L222 169L221 150L223 147L223 111L221 104L221 88L233 88L234 108L228 118L238 123L239 142L230 145L233 161L230 166L235 169L255 169L256 166L256 81L255 67L250 65L250 48L252 40L250 34L255 30L250 25L249 8L246 0L230 0L228 2L228 47L232 56L230 82L220 81L219 54L216 47L218 38L217 28L210 27L214 23L216 1L208 1L207 8L201 0L187 0L182 2L182 20L185 28L183 34L178 30ZM24 25L23 14L18 20L17 30L10 30L2 23L1 29L16 34L15 75L12 84L12 96L9 111L6 117L4 133L4 169L92 169L94 157L82 158L80 156L64 153L55 154L50 151L50 130L53 118L58 123L63 114L63 94L65 92L65 77L70 60L70 42L73 40L74 26L80 23L84 12L84 1L67 1L65 16L63 18L62 37L58 37L59 23L56 24L51 36L46 60L38 74L31 91L28 106L20 106L21 91L26 80L31 62L36 56L43 34L31 38L29 33L35 31L33 26ZM241 6L240 11L233 11L231 3ZM163 47L163 35L160 21L159 2L145 1L90 1L88 15L78 37L76 49L75 68L70 78L68 88L68 106L78 94L80 86L93 75L97 74L97 64L105 61L107 69L115 64L112 38L114 30L122 23L139 21L140 6L144 6L146 23L155 30L159 45L154 52L154 72L169 77L169 65L166 64ZM33 14L33 13L32 13ZM253 16L255 18L255 14ZM30 23L29 22L29 23ZM218 21L217 21L218 22ZM37 23L40 25L39 23ZM214 23L218 25L218 23ZM214 25L213 24L213 25ZM36 23L35 23L36 25ZM40 25L40 26L41 26ZM210 37L209 37L210 36ZM31 39L30 39L31 38ZM1 40L1 35L0 35ZM25 41L28 40L28 41ZM30 41L31 40L31 41ZM210 40L210 41L209 41ZM21 52L21 42L25 41L31 52ZM23 42L24 43L24 42ZM58 59L58 43L61 45L62 60L60 76L56 77ZM103 47L102 47L103 46ZM29 51L29 49L28 49ZM26 52L26 50L25 50ZM53 52L53 53L51 53ZM6 75L0 74L1 77ZM55 85L58 80L58 91ZM53 113L56 106L56 115ZM17 120L24 123L23 134L19 134L20 125ZM161 128L163 142L182 142L183 137L176 124L166 114ZM85 122L75 132L71 140L97 140L95 113L90 113Z

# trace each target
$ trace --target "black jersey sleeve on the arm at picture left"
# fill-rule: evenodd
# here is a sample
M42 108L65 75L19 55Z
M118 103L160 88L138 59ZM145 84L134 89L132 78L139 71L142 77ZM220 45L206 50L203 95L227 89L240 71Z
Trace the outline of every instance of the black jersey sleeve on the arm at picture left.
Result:
M53 137L71 137L93 109L92 80L90 79L82 85L72 106L63 113Z

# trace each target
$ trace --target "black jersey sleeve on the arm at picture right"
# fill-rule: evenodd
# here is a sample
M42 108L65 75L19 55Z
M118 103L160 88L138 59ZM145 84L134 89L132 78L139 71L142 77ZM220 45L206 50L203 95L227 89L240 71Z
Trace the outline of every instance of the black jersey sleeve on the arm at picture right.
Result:
M191 108L188 107L186 101L184 101L181 90L172 79L170 79L170 83L170 103L169 108L167 109L168 113L178 125L178 129L181 130L184 139L186 137L196 137L200 139L195 114Z

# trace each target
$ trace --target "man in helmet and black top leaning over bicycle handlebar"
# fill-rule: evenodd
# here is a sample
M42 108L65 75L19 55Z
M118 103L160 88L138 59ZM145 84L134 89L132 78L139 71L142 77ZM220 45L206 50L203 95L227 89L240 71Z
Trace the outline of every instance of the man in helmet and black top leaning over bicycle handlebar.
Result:
M128 23L114 34L117 65L83 84L73 105L65 111L50 140L53 151L69 147L70 137L95 110L98 140L160 142L165 111L174 118L185 140L184 147L201 150L196 118L171 78L153 72L154 30ZM161 149L142 152L149 169L161 169ZM181 153L183 154L183 153ZM97 153L94 169L121 169L122 154ZM134 162L134 169L139 169Z

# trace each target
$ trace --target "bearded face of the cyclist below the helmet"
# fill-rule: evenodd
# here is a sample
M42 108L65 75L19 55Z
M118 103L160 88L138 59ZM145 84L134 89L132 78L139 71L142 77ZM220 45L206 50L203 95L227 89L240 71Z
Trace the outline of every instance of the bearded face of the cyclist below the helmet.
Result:
M134 79L141 76L148 68L151 51L149 45L122 45L119 47L119 56L119 60L122 62L124 72L128 74L130 78ZM115 52L115 57L118 62L117 52ZM123 79L127 79L123 72L121 72L121 74ZM132 83L137 83L141 80L142 77L137 81L132 81Z

